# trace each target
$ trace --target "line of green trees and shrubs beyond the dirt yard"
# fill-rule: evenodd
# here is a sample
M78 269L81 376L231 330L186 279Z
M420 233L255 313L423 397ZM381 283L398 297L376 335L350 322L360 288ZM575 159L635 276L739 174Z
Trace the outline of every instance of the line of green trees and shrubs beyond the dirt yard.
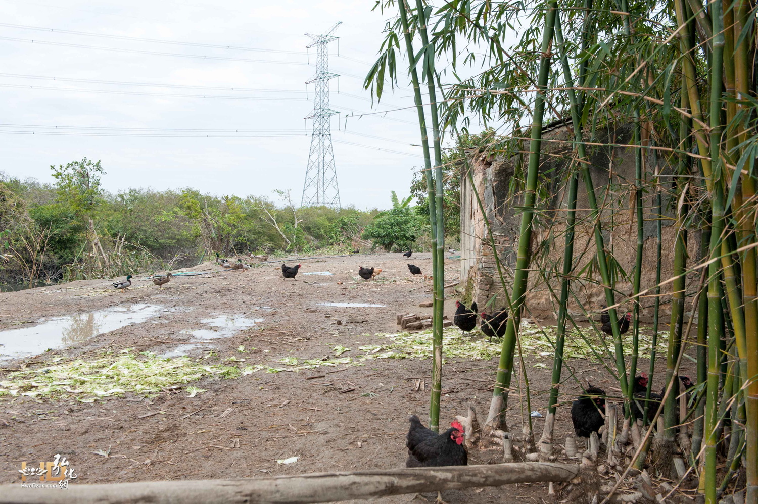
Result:
M115 277L224 255L428 249L409 198L362 211L303 207L289 190L217 196L197 189L102 188L101 161L51 167L55 183L0 172L0 288ZM456 209L457 212L457 209ZM456 213L457 215L457 213Z

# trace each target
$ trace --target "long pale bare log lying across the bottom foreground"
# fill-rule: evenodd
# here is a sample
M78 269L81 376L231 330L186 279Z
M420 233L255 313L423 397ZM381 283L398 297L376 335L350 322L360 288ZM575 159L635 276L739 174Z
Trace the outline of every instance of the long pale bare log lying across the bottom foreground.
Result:
M240 480L146 481L143 483L77 484L68 490L0 485L0 503L14 504L237 504L242 502L310 504L405 493L426 493L512 483L571 481L574 464L517 462L439 468L299 474Z

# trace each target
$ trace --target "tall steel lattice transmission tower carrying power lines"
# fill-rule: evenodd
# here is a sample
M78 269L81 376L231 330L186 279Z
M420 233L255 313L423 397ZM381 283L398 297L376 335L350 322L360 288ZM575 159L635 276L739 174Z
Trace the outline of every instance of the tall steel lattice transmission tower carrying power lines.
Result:
M316 73L306 84L316 83L313 111L305 119L313 119L311 152L308 155L308 167L305 169L305 183L302 186L302 206L329 206L340 208L340 188L337 186L337 167L334 165L334 150L331 146L329 117L339 112L329 108L329 80L338 77L329 72L329 42L338 37L332 36L334 30L342 24L337 22L321 35L312 35L313 42L307 47L316 49Z

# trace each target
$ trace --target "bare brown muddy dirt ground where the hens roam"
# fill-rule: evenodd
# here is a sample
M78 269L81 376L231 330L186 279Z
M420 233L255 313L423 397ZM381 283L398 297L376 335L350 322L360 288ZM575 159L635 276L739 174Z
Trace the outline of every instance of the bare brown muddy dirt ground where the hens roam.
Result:
M271 262L249 271L175 277L162 289L146 280L145 274L139 274L133 287L123 294L112 289L104 291L111 280L77 281L0 293L0 331L24 322L117 305L145 303L165 308L149 321L127 325L66 348L6 362L0 380L24 362L36 368L55 357L62 357L61 362L94 358L104 349L170 352L180 343L195 341L189 331L207 330L208 325L201 321L218 315L263 321L230 337L203 340L205 346L191 349L190 356L207 355L208 345L212 345L218 356L208 358L207 362L220 363L224 358L239 356L236 349L246 345L255 347L245 354L248 362L274 362L288 356L320 358L330 355L330 348L337 345L381 344L383 337L377 334L399 331L398 313L431 313L431 308L419 308L420 303L431 300L428 292L431 284L421 277L411 278L406 266L409 261L400 254L299 262L302 268L298 281L284 280L280 263ZM415 254L410 262L424 272L431 271L428 253ZM361 280L357 275L359 265L382 268L378 280ZM206 262L183 271L219 269ZM334 275L305 275L316 271L330 271ZM454 283L458 277L458 261L447 261L447 283ZM445 312L452 320L453 290L448 289L447 293ZM349 308L319 305L320 302L385 306ZM550 368L532 368L531 356L525 357L533 394L531 409L546 415L545 391L550 388ZM614 384L596 362L580 359L570 364L582 378L614 390ZM641 362L643 365L647 363ZM445 425L454 415L463 415L468 404L475 405L480 415L486 415L495 369L495 359L491 362L450 359L444 368L440 424ZM325 371L337 372L306 380ZM415 392L414 378L428 377L430 371L429 359L385 358L346 368L322 367L275 374L261 371L227 380L205 378L196 385L207 391L194 397L184 391L160 393L151 399L127 393L125 397L82 403L75 399L2 396L0 478L2 483L20 482L17 471L21 462L36 465L52 460L58 453L76 468L78 477L72 484L399 468L406 459L409 415L418 414L424 422L428 418L428 390ZM566 383L562 393L567 395L562 399L570 401L577 391L574 383ZM522 409L517 394L511 397L509 424L517 427L521 425ZM146 416L149 413L156 414ZM542 420L535 419L536 437L542 432ZM556 441L565 439L571 431L568 405L564 405L558 413ZM108 457L93 453L109 447ZM293 456L299 457L297 462L277 463L277 459ZM497 463L499 459L502 454L497 449L469 453L469 464ZM381 502L409 502L411 498L398 496ZM543 499L550 502L547 484L451 490L443 493L443 498L449 504L543 502Z

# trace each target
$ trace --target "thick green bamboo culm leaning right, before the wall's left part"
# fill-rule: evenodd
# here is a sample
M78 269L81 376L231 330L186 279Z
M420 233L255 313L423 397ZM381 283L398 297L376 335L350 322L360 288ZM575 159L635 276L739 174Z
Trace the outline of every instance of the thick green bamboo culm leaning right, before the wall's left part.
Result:
M550 8L545 15L545 27L542 34L542 55L540 56L540 74L537 77L537 93L534 97L529 162L524 189L521 229L518 233L518 257L516 259L510 302L511 314L508 318L506 334L503 337L503 349L500 352L500 362L498 363L492 402L490 402L490 412L487 415L487 426L490 428L505 427L504 430L507 430L505 411L508 406L508 390L513 371L513 353L516 337L518 337L518 324L521 322L521 311L526 296L529 275L529 243L531 242L531 224L534 218L534 202L537 198L537 174L540 171L542 121L545 113L547 84L550 79L550 45L553 42L553 32L558 14L558 3L550 2L549 5Z

